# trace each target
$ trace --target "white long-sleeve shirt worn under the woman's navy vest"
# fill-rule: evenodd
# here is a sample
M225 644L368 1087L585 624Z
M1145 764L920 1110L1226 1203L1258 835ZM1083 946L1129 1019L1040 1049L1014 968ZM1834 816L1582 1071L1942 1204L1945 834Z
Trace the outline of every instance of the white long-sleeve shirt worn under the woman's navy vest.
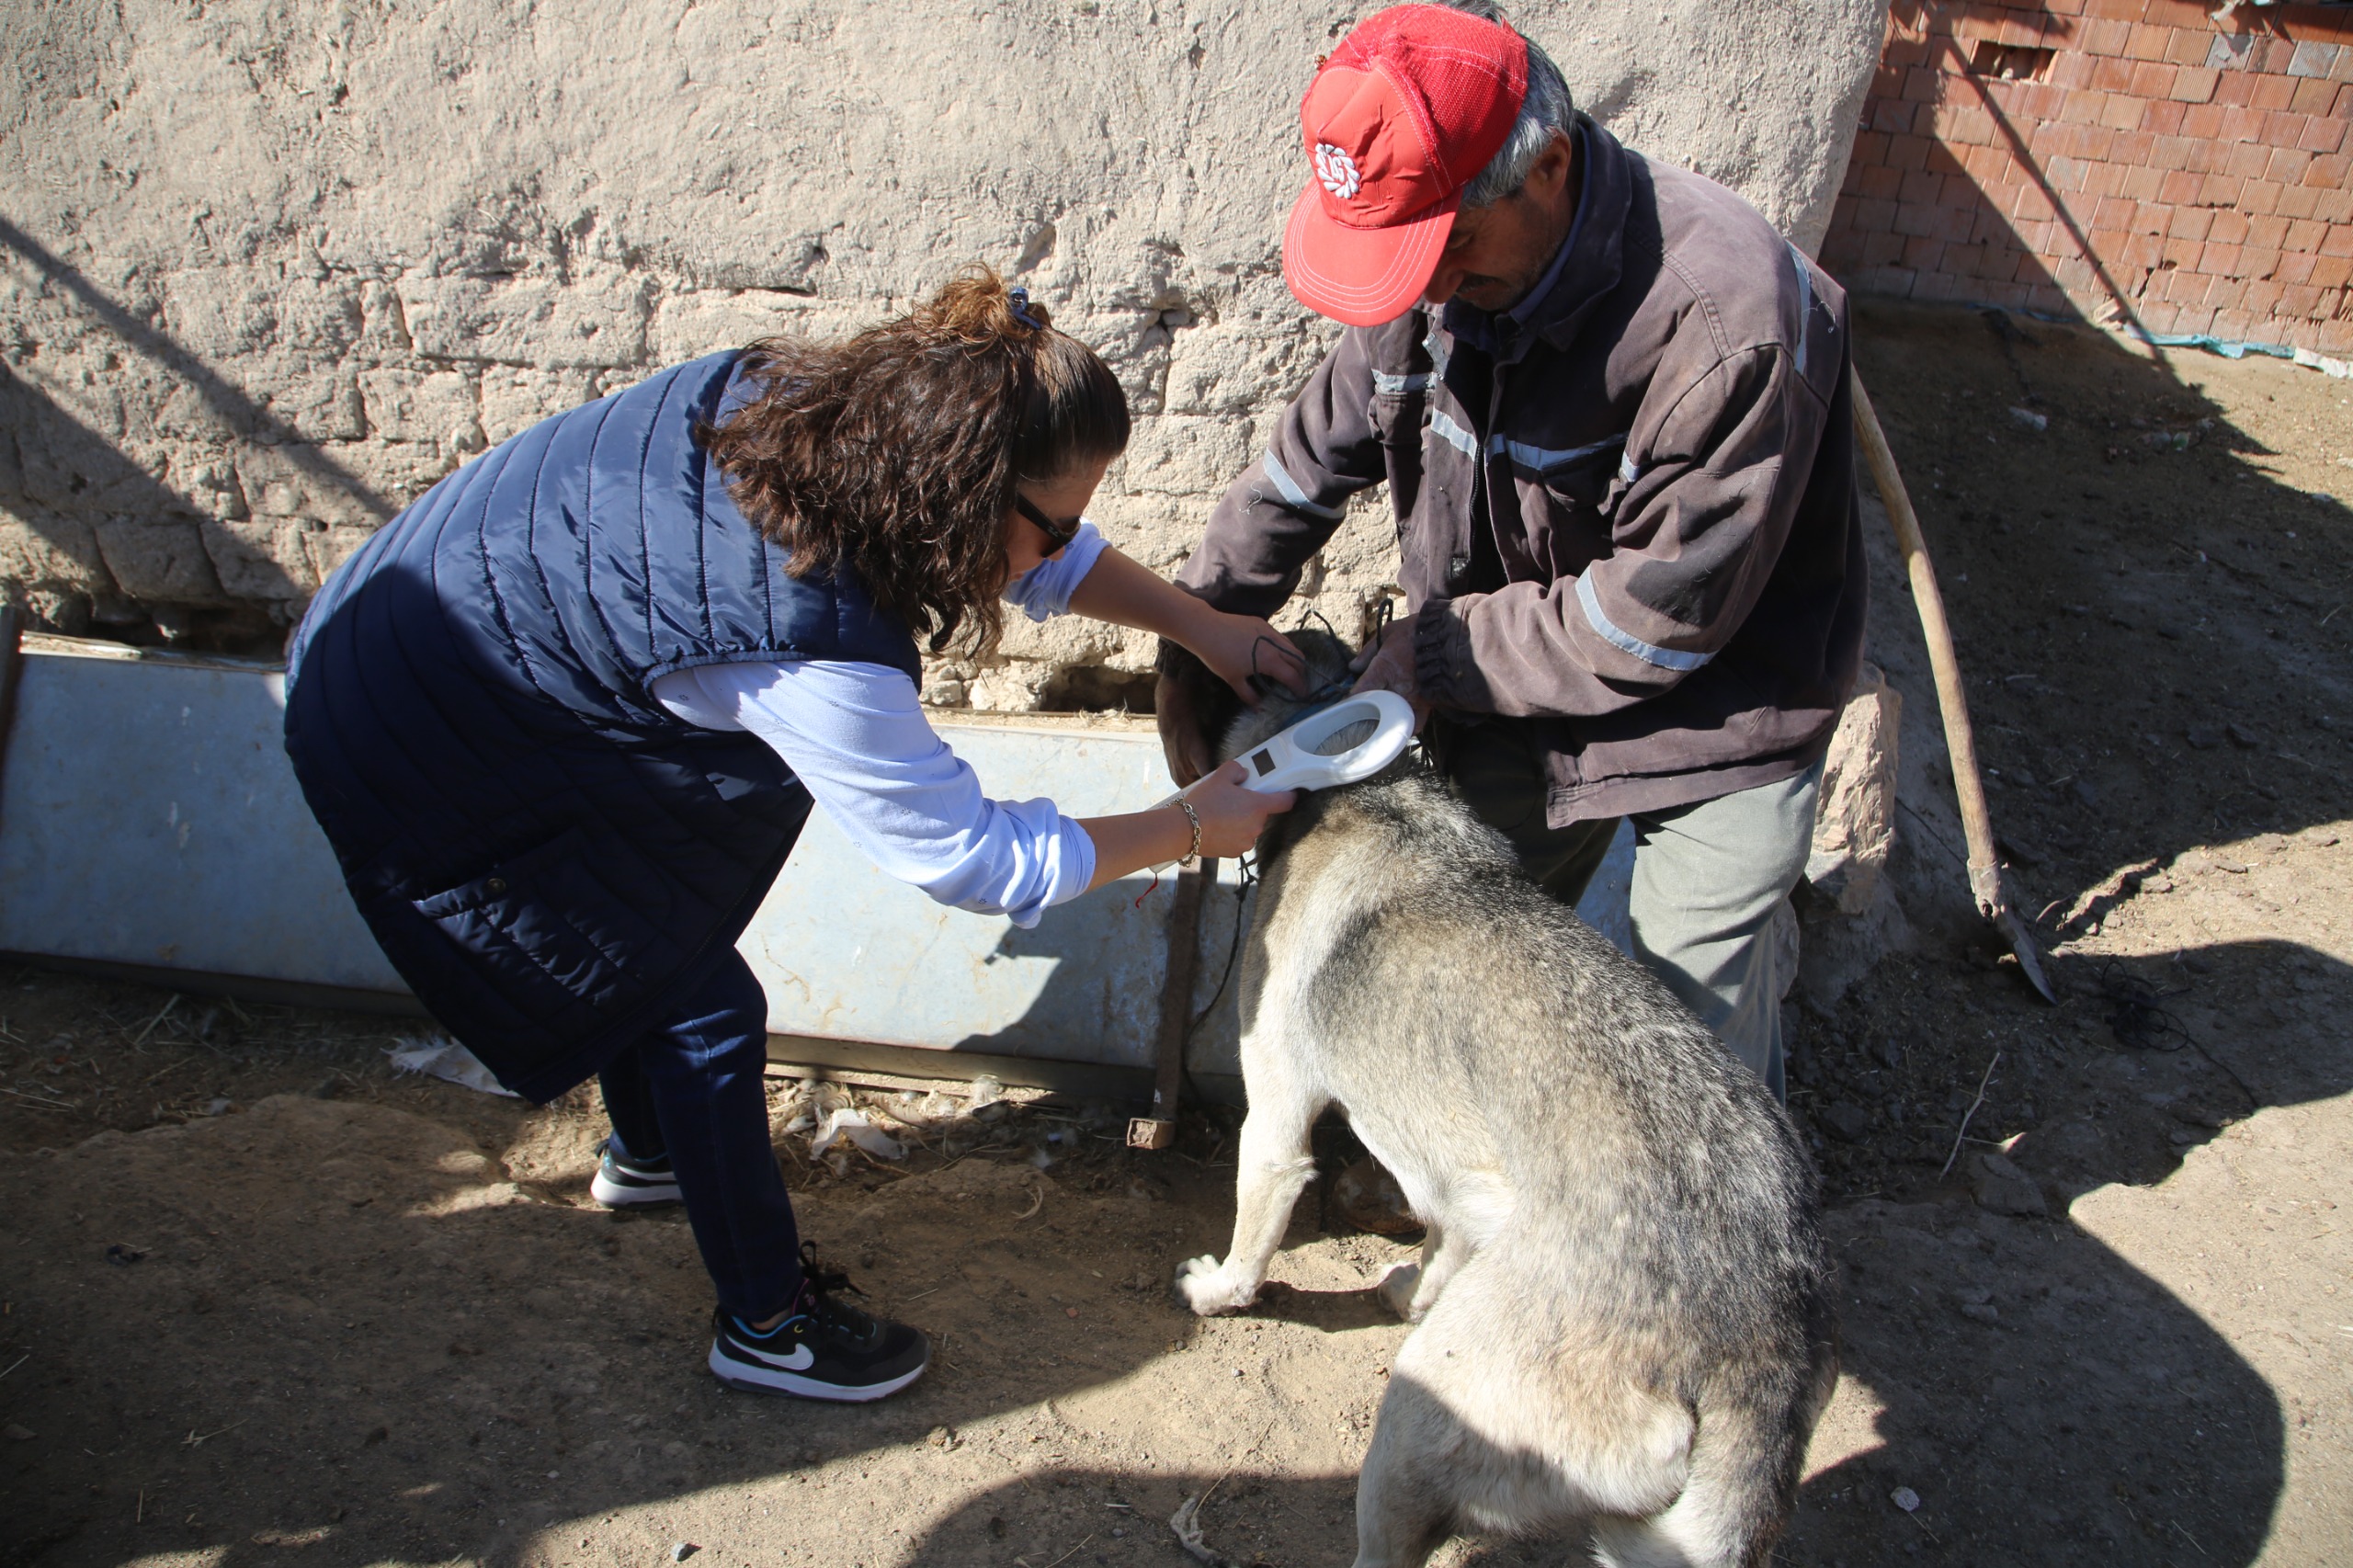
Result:
M1082 523L1005 600L1033 622L1064 614L1101 553L1104 537ZM887 664L699 664L654 680L654 699L689 725L758 735L849 843L941 904L1028 928L1094 881L1087 829L1052 800L984 796L932 732L915 683Z

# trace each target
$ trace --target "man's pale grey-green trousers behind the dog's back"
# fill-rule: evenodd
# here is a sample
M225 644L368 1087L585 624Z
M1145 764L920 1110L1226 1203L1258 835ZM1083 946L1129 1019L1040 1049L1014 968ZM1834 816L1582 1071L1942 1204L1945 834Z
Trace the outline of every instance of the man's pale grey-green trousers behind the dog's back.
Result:
M1544 822L1544 777L1515 725L1445 725L1438 765L1520 864L1562 904L1584 897L1617 838L1617 817ZM1781 991L1774 909L1798 885L1814 843L1821 763L1781 784L1633 817L1633 956L1682 998L1774 1092L1781 1078Z

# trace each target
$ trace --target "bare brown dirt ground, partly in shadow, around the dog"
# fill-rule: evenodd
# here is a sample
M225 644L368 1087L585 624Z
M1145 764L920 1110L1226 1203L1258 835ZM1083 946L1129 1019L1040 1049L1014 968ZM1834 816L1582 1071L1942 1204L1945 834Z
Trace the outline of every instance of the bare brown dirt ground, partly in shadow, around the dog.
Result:
M2064 1001L1953 918L1882 553L1913 946L1791 1003L1847 1375L1777 1561L2348 1561L2353 386L1967 311L1857 337ZM711 1382L685 1224L586 1198L588 1095L398 1078L402 1019L167 1001L0 970L5 1563L1174 1568L1212 1483L1226 1554L1353 1554L1405 1337L1365 1285L1405 1245L1304 1201L1285 1288L1179 1314L1226 1114L1151 1156L1125 1109L1009 1107L835 1172L774 1083L805 1231L941 1347L842 1410Z

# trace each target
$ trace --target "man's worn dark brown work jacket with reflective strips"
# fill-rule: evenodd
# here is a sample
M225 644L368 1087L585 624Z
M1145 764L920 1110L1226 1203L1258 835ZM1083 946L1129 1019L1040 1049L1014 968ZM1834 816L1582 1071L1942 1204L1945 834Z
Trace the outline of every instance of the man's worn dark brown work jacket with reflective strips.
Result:
M1579 146L1525 334L1351 327L1179 574L1268 614L1386 480L1421 692L1522 725L1555 826L1809 768L1866 596L1845 292L1732 191Z

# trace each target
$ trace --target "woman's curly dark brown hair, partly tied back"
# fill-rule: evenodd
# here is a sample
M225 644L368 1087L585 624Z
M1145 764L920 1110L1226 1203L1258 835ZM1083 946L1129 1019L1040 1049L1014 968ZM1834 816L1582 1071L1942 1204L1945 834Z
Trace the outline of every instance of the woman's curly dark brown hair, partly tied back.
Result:
M704 433L736 506L793 577L849 574L932 652L1002 633L1014 485L1127 450L1104 360L986 266L842 344L762 339L744 372L751 403Z

